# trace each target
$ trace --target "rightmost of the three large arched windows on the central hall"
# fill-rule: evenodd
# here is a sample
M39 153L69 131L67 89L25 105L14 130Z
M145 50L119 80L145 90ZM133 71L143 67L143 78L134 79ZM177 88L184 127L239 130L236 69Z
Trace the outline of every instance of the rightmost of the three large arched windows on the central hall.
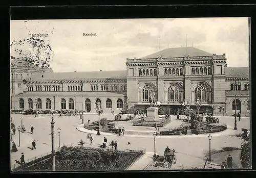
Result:
M199 83L195 88L195 98L196 102L199 99L202 103L210 103L210 88L205 83Z

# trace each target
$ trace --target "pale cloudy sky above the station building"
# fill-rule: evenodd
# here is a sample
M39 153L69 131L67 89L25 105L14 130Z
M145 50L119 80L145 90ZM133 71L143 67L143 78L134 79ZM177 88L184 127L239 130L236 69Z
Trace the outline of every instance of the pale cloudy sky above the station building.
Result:
M126 58L156 53L159 46L163 50L186 44L211 54L225 53L228 67L249 66L246 17L11 20L11 42L29 38L29 33L48 34L39 39L54 52L54 72L126 70Z

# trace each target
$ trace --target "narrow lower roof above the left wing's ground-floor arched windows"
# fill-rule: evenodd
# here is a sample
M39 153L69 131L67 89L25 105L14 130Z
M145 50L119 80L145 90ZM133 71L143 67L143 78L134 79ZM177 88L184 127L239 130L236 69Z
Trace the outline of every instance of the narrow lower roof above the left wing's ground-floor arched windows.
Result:
M100 97L100 96L124 96L121 93L114 93L114 92L108 92L108 91L33 91L33 92L25 92L25 93L20 93L18 96L49 96L53 97L55 95L56 97L58 96L83 96L83 97L90 97L90 96L95 96L95 97Z

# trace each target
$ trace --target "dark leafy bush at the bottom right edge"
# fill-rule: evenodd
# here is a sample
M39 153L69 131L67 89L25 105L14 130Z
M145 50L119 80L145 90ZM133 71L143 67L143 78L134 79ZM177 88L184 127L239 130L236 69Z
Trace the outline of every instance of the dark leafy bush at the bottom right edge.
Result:
M241 148L241 165L243 168L248 169L251 167L251 141L248 140L243 143Z

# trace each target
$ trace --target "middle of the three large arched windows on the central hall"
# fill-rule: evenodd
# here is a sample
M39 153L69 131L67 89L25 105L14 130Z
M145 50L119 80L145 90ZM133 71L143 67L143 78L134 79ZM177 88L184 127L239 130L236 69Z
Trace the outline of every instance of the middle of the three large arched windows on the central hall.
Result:
M165 91L166 92L166 91ZM182 98L182 87L176 83L170 84L167 89L167 101L172 103L181 103Z

